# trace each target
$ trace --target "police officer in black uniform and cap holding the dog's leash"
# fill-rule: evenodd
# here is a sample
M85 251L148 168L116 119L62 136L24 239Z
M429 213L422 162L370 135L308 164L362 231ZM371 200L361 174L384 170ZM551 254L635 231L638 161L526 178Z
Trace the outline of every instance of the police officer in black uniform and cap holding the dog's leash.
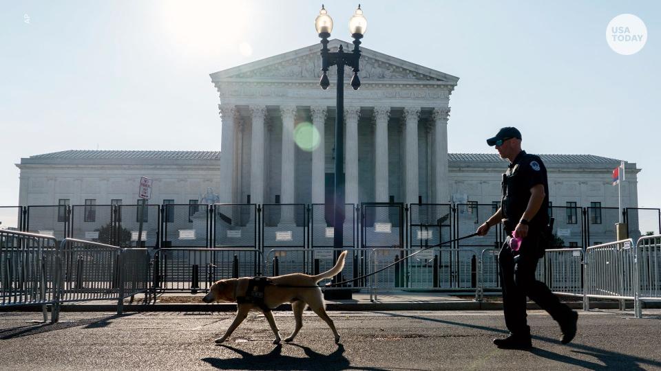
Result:
M530 328L526 323L526 296L547 311L560 324L563 344L576 335L578 313L549 288L535 279L537 261L544 256L551 231L549 230L549 186L546 168L536 155L521 150L521 132L513 127L501 128L495 137L487 139L489 146L496 146L510 166L503 174L503 199L499 210L477 229L485 236L494 225L503 223L507 240L498 254L503 286L503 310L505 325L510 336L494 339L494 344L505 349L532 347ZM510 248L510 239L522 238L518 251Z

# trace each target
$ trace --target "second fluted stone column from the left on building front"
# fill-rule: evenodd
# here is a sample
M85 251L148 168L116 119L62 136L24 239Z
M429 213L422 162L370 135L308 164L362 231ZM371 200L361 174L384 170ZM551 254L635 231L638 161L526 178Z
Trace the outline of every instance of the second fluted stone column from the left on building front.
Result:
M250 201L264 203L264 117L266 106L250 106Z

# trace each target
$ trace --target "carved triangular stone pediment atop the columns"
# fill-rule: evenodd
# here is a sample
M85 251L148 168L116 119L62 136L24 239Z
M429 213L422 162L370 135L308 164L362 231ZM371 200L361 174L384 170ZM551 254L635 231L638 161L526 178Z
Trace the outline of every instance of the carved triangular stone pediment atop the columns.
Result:
M333 39L328 42L331 52L342 45L345 52L353 49L352 43ZM311 45L277 56L264 58L211 74L214 82L236 80L318 80L321 77L321 44ZM361 47L359 76L363 82L432 82L443 85L457 85L459 78L444 74L406 60L388 56L374 50ZM335 74L335 67L328 71L329 77ZM351 69L346 67L345 75L350 76Z

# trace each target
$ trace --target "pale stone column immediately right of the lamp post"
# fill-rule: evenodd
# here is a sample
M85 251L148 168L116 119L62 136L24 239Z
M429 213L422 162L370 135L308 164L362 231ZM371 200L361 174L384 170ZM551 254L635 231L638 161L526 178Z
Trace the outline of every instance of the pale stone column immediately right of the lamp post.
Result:
M360 107L344 107L346 133L344 136L344 174L346 203L358 204L358 118Z

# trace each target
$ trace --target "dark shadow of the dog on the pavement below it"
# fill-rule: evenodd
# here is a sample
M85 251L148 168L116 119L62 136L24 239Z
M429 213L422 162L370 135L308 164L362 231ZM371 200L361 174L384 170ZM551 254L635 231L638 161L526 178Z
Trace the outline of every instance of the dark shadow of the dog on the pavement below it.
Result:
M344 346L338 344L337 350L330 355L323 355L314 350L298 344L287 344L301 348L307 357L291 357L282 355L282 344L277 344L271 352L265 355L253 355L245 350L220 344L223 348L238 353L240 358L220 359L203 358L202 361L219 370L384 370L382 368L352 367L350 361L344 357Z

